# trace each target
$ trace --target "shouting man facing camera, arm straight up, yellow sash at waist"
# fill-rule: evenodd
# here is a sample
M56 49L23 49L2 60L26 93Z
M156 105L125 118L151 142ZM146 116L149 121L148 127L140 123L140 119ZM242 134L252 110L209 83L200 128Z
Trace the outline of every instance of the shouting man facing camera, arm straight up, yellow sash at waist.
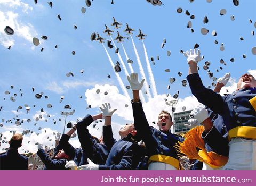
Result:
M127 78L133 92L132 108L135 128L141 134L148 151L148 170L179 170L178 152L174 145L178 141L183 141L183 138L171 133L173 122L170 113L162 111L159 114L157 123L159 130L150 127L139 97L139 90L144 80L139 83L137 73L132 73Z

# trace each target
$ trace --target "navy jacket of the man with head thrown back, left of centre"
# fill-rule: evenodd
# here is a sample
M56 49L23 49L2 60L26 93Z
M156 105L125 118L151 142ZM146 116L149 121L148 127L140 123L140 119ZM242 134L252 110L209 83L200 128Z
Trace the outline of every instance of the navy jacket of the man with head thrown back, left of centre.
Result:
M116 141L110 126L103 126L103 139L105 144L111 146L105 165L99 165L99 170L135 170L141 159L141 147L133 139L132 134ZM113 143L114 142L114 143ZM108 146L108 148L110 148Z

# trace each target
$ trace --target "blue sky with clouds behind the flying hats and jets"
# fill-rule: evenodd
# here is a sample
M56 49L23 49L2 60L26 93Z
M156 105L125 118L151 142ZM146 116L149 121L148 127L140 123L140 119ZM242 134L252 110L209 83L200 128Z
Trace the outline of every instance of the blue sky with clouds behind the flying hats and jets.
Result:
M219 78L227 72L231 73L231 80L227 85L230 90L234 89L235 83L242 73L249 70L251 73L256 71L255 55L251 52L251 49L256 46L255 35L251 35L251 31L255 31L255 1L245 0L241 1L239 6L234 6L231 0L213 0L211 3L207 3L206 0L196 0L193 3L190 3L189 0L163 0L165 6L153 6L144 0L115 0L114 5L110 4L110 0L98 0L93 1L89 8L86 7L85 1L52 2L52 8L47 1L38 1L38 4L34 4L33 1L21 0L0 2L0 20L3 20L0 21L0 72L2 74L0 106L3 106L0 111L0 119L4 125L0 128L0 132L9 130L22 132L25 129L30 129L35 133L41 133L38 131L39 126L62 132L64 120L60 116L60 111L64 111L63 107L66 104L76 110L73 116L68 117L68 120L71 121L76 121L78 117L83 117L86 114L96 114L100 111L98 106L101 103L110 102L118 109L113 116L115 132L122 124L132 122L130 100L123 96L124 93L104 48L97 41L90 40L92 32L98 32L101 37L106 38L105 41L110 39L103 33L105 24L109 29L115 31L113 39L117 36L117 31L126 37L123 45L127 55L134 62L132 64L134 71L139 73L131 38L127 40L129 35L123 32L126 23L135 30L132 37L147 81L151 84L142 42L135 37L138 35L139 29L147 35L144 43L158 92L158 96L151 100L144 95L147 102L144 105L150 123L156 121L158 114L156 110L170 109L164 103L166 94L171 95L167 97L171 100L172 96L179 91L179 107L186 106L189 109L196 104L195 99L191 97L189 87L183 87L181 84L181 81L186 79L188 72L186 58L180 53L181 49L186 51L193 48L195 43L200 45L199 49L204 55L204 60L199 62L199 67L201 67L199 73L205 86L212 83L207 72L202 69L205 61L211 62L209 69L214 73L214 77ZM85 15L82 14L81 7L86 7ZM178 7L183 9L180 14L176 11ZM223 16L220 15L221 9L227 10ZM190 19L190 16L185 14L186 10L191 15L194 14L195 19ZM61 21L57 18L57 14L60 14ZM203 23L205 15L209 19L207 24ZM232 15L234 15L235 21L231 21L230 16ZM110 26L113 23L113 16L122 23L121 29L114 29L113 26ZM252 23L249 22L249 19L252 20ZM188 21L192 22L194 33L187 28ZM76 30L73 28L74 24L78 27ZM14 29L14 35L6 35L4 28L7 25ZM209 30L207 35L202 35L200 32L203 27ZM213 30L217 31L217 36L211 35ZM42 35L48 36L48 40L42 40ZM41 42L39 46L33 45L33 37L39 38ZM244 40L241 41L240 37L243 37ZM163 38L166 39L166 44L161 49ZM218 44L214 43L215 40L218 41ZM221 43L225 46L223 52L219 49ZM12 45L11 50L8 50L7 47L10 44ZM115 44L129 71L122 45L116 41ZM55 45L58 45L58 49L54 48ZM104 45L107 47L106 42ZM44 48L43 52L41 52L41 47ZM72 55L73 50L76 52L75 55ZM114 63L120 62L114 48L107 48L107 50ZM167 56L167 50L171 51L171 56ZM243 54L246 55L245 59L242 57ZM156 59L157 55L160 55L160 60ZM150 61L151 56L155 59L155 65ZM226 66L220 64L221 58L226 62ZM235 61L230 62L230 58L235 58ZM216 69L220 66L223 67L223 70L219 69L217 73ZM83 74L80 73L81 69L84 69ZM170 72L165 72L165 69L170 69ZM74 77L67 77L66 73L69 72L73 72ZM178 72L182 72L181 77L178 76ZM110 79L107 78L108 74L111 75ZM126 86L128 82L124 69L122 68L118 74ZM139 76L141 77L141 74ZM173 84L169 82L170 77L176 78ZM167 90L168 84L171 86L169 90ZM10 88L11 85L14 86L13 89ZM32 87L35 88L35 92L32 92ZM100 94L95 93L96 89L101 89ZM6 90L10 91L10 95L4 94ZM105 91L109 93L107 96L103 95ZM127 91L131 97L131 90ZM20 97L21 92L23 93L22 97ZM49 96L49 98L36 99L35 94L40 92L44 92L43 96ZM17 97L14 97L15 102L10 100L13 94L17 94ZM59 103L62 95L65 98L62 103ZM153 94L151 95L153 96ZM46 107L49 103L52 104L52 108ZM31 107L29 114L26 114L24 104ZM125 104L129 104L129 107L126 108ZM33 107L33 105L36 106ZM88 105L92 105L92 108L86 109ZM23 108L15 113L18 106ZM44 113L39 112L41 108L44 109ZM51 117L47 122L45 120L36 122L33 118L38 116L37 113L43 114L44 117L50 114ZM13 119L16 115L21 120L31 119L31 122L27 123L25 120L22 125L16 127ZM61 121L59 121L60 117ZM6 123L9 119L13 123ZM57 124L54 125L53 120L57 121ZM36 126L34 126L35 122ZM90 128L90 131L99 136L101 123L98 123L94 129ZM28 138L31 138L29 135L27 135ZM115 137L118 137L117 133L115 133ZM0 148L1 150L2 148Z

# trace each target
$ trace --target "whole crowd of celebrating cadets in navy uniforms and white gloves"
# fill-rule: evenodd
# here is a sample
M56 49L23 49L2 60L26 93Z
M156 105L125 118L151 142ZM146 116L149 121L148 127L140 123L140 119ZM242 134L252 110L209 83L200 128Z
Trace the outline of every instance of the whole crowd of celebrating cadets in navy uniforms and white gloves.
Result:
M144 80L139 82L138 74L132 73L127 79L133 93L134 123L125 124L119 130L121 139L113 138L111 128L111 116L116 109L102 104L102 113L86 115L61 138L60 134L56 136L59 142L53 157L46 153L42 144L37 144L43 169L202 170L205 164L207 170L256 170L255 78L250 74L242 75L236 91L220 96L220 89L226 85L230 74L219 78L214 90L205 88L197 72L197 63L201 61L199 50L190 50L184 55L189 65L187 80L191 92L201 103L191 112L194 117L187 124L191 128L190 135L185 134L184 138L171 132L173 121L167 111L159 112L158 129L149 125L139 96ZM105 119L100 139L87 129L98 119ZM68 142L76 130L81 148L74 148ZM193 132L200 130L196 135ZM194 140L189 139L191 136ZM198 141L203 141L203 147ZM9 144L9 150L0 155L0 169L28 170L28 158L18 153L22 135L14 134ZM186 149L196 149L196 153Z

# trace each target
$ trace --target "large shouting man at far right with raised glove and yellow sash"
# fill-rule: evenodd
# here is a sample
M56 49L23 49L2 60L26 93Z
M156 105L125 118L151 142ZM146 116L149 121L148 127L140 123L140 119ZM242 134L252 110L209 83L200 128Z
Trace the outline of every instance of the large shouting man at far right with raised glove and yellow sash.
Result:
M221 97L203 86L197 71L201 61L196 49L184 53L189 64L187 80L192 94L199 102L223 117L227 126L229 159L224 170L256 170L256 80L250 74L239 78L237 90ZM217 142L219 132L214 128L205 130L207 143ZM210 142L211 141L211 142ZM221 144L219 144L221 145Z

